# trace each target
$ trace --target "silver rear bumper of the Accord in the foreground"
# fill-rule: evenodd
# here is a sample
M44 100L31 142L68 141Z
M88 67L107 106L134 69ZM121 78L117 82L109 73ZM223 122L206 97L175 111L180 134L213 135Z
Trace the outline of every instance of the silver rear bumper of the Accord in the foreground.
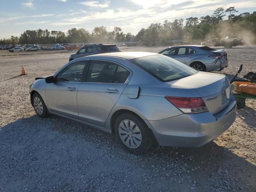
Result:
M218 114L182 114L175 117L145 120L160 146L200 147L225 132L236 118L236 100Z

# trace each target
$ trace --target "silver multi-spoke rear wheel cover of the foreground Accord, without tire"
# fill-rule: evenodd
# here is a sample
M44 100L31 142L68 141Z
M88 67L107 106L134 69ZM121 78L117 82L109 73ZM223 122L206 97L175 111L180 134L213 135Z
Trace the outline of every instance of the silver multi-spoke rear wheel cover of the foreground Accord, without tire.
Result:
M142 142L142 134L138 125L132 120L122 120L118 127L122 142L129 148L138 148Z

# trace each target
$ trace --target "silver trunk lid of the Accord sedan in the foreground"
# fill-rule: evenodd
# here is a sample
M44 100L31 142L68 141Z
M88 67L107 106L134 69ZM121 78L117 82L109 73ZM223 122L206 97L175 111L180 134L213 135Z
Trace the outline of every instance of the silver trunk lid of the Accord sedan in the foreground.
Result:
M198 72L192 76L166 83L196 90L212 114L222 111L230 102L229 80L221 74Z

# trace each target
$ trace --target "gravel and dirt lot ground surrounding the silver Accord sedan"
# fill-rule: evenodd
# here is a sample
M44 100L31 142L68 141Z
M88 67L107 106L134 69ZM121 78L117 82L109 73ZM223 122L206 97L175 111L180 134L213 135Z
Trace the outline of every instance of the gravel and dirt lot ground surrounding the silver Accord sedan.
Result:
M256 72L255 47L227 52L229 66L220 73L231 78L242 63L241 76ZM58 116L35 115L28 84L54 73L71 53L0 51L0 191L256 191L255 100L247 100L234 124L205 146L158 147L135 156L113 135ZM19 76L21 64L28 75Z

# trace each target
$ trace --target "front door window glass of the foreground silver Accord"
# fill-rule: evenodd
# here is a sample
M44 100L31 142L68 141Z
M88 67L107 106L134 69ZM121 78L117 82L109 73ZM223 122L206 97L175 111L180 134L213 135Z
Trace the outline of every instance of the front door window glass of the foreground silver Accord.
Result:
M87 61L77 61L62 69L57 74L57 82L81 82Z

